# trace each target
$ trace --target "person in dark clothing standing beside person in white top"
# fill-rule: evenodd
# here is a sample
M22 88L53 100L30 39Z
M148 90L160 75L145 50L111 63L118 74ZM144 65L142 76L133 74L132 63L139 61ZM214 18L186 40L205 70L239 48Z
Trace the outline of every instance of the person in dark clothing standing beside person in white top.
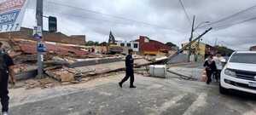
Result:
M212 73L216 71L216 65L214 60L212 60L212 55L207 58L204 66L207 72L207 84L212 82Z

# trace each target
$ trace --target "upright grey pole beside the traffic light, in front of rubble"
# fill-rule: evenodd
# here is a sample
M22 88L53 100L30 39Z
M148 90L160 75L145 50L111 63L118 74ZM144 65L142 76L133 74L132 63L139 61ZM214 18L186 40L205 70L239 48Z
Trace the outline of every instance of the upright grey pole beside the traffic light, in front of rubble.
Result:
M42 31L43 31L43 6L44 6L43 3L44 3L43 0L37 0L37 14L36 14L37 17L36 18L37 18L38 26L42 27ZM43 41L42 39L38 39L38 43L41 43L42 41ZM38 77L37 78L43 78L43 62L44 62L44 55L42 52L38 52Z

